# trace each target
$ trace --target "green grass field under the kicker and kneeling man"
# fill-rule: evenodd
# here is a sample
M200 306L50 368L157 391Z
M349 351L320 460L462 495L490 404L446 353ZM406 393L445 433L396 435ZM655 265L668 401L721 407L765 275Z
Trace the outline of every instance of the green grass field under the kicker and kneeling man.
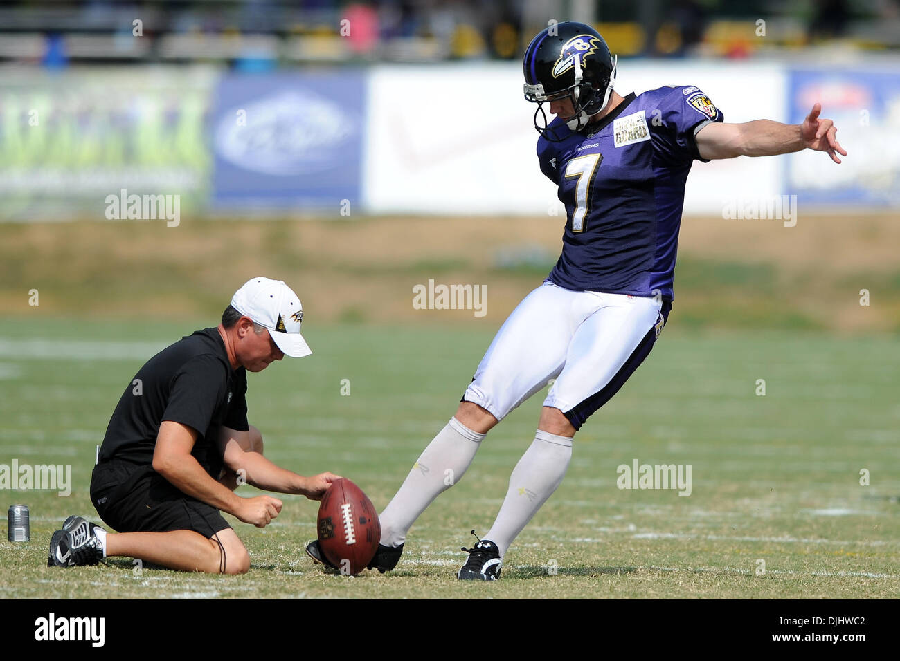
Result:
M496 584L455 580L460 547L471 546L471 529L490 528L533 438L540 394L488 436L387 575L314 567L302 548L315 535L317 504L299 496L285 496L264 530L234 522L253 558L245 576L137 572L126 558L46 567L50 533L68 514L97 521L88 497L94 446L121 391L158 348L203 325L0 321L0 463L71 464L73 480L68 497L2 492L4 507L31 507L31 542L0 541L4 599L900 593L896 337L689 333L677 307L647 362L576 437L563 486L509 550ZM277 463L353 478L380 510L454 412L492 332L310 325L310 358L251 375L250 421ZM340 394L344 379L349 396ZM617 466L635 459L690 464L691 495L618 489ZM862 469L869 486L860 485Z

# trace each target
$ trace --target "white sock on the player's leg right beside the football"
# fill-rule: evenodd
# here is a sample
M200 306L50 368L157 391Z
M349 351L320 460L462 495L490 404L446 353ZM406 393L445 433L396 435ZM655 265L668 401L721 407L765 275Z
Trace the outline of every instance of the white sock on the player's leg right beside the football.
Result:
M473 432L455 417L450 418L379 515L384 546L400 546L406 541L406 533L419 514L463 478L485 435Z

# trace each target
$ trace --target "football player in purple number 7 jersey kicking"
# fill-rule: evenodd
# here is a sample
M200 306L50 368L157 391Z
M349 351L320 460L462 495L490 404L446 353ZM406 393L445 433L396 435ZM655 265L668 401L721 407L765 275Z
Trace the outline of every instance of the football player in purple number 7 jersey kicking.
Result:
M685 182L695 160L846 152L820 105L800 125L726 124L690 85L621 96L617 61L589 25L553 24L528 46L541 171L566 208L563 254L494 337L448 424L381 514L371 566L396 566L419 514L463 477L491 428L555 379L497 518L457 576L494 580L510 544L563 481L572 437L653 349L671 311ZM544 105L556 115L547 123ZM447 479L447 476L452 479ZM316 542L308 547L320 559Z

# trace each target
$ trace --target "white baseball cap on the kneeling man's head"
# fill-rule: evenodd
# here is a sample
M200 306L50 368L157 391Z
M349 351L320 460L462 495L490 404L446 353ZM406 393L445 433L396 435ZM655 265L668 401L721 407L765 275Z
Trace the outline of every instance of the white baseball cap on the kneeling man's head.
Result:
M252 278L234 292L231 307L260 326L266 326L284 355L302 358L312 353L300 335L303 306L284 281Z

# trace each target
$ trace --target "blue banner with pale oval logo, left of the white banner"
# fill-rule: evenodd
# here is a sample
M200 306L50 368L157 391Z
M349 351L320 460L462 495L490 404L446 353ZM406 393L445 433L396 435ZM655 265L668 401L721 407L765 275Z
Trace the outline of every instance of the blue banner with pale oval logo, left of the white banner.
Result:
M364 130L362 71L225 76L211 118L214 208L358 208Z

